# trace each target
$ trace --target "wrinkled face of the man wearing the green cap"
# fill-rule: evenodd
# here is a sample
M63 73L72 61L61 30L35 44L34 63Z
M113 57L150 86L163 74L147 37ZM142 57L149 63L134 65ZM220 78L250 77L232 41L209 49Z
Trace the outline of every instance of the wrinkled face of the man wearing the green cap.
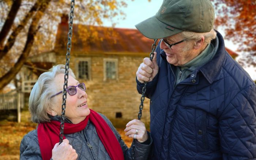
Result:
M183 40L179 34L164 38L165 41L167 41L169 44L173 44L176 42L179 42ZM195 58L198 54L193 50L193 44L187 41L184 41L182 43L178 43L174 46L172 46L172 49L170 49L166 43L161 41L160 48L165 51L166 53L166 60L170 64L174 66L181 66L185 63L191 61L193 58Z

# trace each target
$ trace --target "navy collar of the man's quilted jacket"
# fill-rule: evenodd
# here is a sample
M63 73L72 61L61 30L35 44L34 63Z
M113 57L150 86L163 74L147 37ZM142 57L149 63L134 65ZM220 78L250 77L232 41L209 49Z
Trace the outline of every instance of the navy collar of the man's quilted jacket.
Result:
M198 73L198 71L201 71L202 74L204 75L204 77L207 79L207 81L210 84L214 81L215 77L218 75L218 73L221 69L221 66L223 64L223 61L225 58L225 52L226 52L224 39L218 31L216 31L216 32L217 32L219 44L218 44L218 49L216 51L214 58L212 58L212 60L210 62L206 63L205 65L198 67L197 69L195 69L195 71L193 71L191 73L191 75L192 74L196 75ZM163 50L161 50L160 55L163 58L163 60L165 60L167 62L166 54ZM193 77L193 79L194 78L196 78L196 76Z

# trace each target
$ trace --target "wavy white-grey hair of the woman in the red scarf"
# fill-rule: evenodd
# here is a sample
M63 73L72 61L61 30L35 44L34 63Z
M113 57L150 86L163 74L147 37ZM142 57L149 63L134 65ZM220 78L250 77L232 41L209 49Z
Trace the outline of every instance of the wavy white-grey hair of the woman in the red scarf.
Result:
M56 75L62 73L65 74L65 65L57 65L39 76L29 96L29 111L33 122L41 123L50 121L47 114L48 110L53 109L53 98L50 99L50 97L56 93L53 80ZM69 69L70 75L75 78L71 69Z

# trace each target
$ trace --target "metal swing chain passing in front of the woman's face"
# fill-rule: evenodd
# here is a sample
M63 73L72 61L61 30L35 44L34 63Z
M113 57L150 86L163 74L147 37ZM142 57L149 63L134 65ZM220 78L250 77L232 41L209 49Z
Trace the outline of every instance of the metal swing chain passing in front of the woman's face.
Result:
M62 101L62 112L61 112L61 122L60 122L60 143L63 142L64 135L64 120L65 120L65 109L66 109L66 99L67 99L67 87L68 87L68 70L69 70L69 60L71 51L71 38L72 38L72 28L73 28L73 18L74 18L75 0L70 2L70 12L69 12L69 24L68 24L68 43L67 43L67 54L66 54L66 64L65 64L65 76L63 85L63 101Z

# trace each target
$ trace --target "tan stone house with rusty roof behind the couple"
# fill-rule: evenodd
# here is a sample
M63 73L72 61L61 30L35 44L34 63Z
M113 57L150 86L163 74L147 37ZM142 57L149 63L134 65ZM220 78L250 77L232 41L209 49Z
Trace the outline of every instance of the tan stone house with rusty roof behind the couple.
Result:
M91 27L97 30L99 39L89 37L83 41L83 30ZM106 31L111 29L74 24L70 68L76 79L86 85L89 108L103 113L115 125L119 122L123 125L138 118L141 95L136 90L136 71L144 57L149 56L154 41L136 29L113 28L115 36ZM42 72L53 65L65 64L67 33L67 18L62 17L54 50L31 57L23 67L23 92L30 92L35 77ZM233 58L237 56L229 52ZM146 124L150 122L149 102L145 98L141 120Z

